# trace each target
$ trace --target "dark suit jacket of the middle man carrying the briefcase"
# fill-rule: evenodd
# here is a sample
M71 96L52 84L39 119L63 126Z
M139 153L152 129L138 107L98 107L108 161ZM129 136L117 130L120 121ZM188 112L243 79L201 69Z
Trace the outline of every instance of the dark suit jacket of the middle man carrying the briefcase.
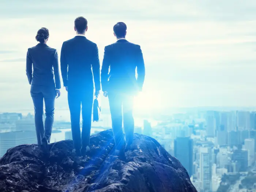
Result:
M98 47L86 37L75 36L63 43L60 67L65 87L93 87L94 79L95 90L101 90Z

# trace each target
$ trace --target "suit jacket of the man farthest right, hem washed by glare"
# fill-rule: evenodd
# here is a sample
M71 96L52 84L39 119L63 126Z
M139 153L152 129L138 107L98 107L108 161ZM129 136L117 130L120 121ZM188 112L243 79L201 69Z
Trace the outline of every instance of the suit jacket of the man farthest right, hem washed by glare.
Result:
M145 65L139 45L119 39L105 47L101 69L102 91L139 91L142 90L144 79Z

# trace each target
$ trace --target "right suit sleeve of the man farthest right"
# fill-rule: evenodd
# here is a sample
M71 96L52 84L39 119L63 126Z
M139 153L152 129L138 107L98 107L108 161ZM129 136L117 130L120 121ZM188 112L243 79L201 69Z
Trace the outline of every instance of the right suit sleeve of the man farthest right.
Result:
M138 74L137 83L139 86L139 90L141 91L144 84L144 80L145 80L145 64L144 64L143 54L142 54L142 50L140 49L140 46L138 50L137 74Z

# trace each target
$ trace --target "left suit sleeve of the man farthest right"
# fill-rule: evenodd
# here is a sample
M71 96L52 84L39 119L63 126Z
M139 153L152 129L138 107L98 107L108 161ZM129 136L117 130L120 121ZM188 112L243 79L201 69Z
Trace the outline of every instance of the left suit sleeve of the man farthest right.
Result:
M110 55L105 47L104 49L104 57L101 67L101 87L102 91L108 90L108 73L109 73L109 66L110 66Z

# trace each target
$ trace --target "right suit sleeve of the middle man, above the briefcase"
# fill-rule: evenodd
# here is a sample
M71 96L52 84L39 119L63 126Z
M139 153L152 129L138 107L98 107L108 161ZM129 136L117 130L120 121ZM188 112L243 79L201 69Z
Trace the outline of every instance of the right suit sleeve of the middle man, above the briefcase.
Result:
M93 78L94 78L94 84L95 84L95 91L101 90L101 77L99 75L99 52L98 47L95 44L95 48L93 50L92 54L92 62L91 66L93 68Z

